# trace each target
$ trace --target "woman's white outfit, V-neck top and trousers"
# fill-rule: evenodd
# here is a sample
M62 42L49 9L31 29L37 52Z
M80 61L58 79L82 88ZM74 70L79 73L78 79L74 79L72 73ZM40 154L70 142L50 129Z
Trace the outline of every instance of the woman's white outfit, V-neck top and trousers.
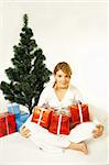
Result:
M68 107L73 103L74 100L83 101L81 95L76 87L69 85L65 97L62 101L59 101L55 94L53 85L50 85L48 87L45 87L42 91L37 106L48 103L50 107ZM67 147L70 144L70 142L79 143L81 141L92 138L91 132L97 123L80 123L74 129L72 129L68 135L56 135L48 132L47 129L44 129L41 125L31 122L31 119L32 114L24 123L24 125L26 125L26 128L31 131L30 139L32 139L32 141L34 141L34 143L39 147L51 152L62 152L65 147Z

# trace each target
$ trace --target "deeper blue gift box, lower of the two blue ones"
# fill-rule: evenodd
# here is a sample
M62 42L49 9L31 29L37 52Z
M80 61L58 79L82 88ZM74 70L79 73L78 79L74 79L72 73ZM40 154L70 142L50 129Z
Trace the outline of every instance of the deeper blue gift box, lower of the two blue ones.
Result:
M17 123L17 131L20 131L21 125L26 121L30 117L30 113L21 111L19 114L15 114L15 123Z

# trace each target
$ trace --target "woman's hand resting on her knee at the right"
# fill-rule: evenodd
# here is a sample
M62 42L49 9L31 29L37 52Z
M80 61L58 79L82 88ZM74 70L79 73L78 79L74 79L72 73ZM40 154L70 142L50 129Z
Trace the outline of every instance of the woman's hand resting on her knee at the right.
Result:
M97 124L96 129L92 131L94 138L97 139L97 138L101 136L102 133L103 133L103 125Z

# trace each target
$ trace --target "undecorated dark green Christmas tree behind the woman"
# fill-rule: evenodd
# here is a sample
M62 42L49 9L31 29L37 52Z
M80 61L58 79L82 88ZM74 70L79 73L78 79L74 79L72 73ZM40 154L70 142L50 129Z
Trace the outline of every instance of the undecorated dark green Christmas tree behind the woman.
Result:
M14 57L11 58L13 68L6 69L10 81L1 81L0 89L7 100L28 106L32 113L44 89L44 84L50 80L52 73L46 68L44 64L46 58L33 40L33 32L28 24L28 14L24 14L20 42L18 46L13 46Z

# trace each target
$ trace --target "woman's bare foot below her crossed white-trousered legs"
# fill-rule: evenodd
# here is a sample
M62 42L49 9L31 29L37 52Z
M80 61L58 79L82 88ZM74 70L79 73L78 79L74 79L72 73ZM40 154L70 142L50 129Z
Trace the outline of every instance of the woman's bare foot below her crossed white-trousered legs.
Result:
M80 151L84 154L88 154L87 144L85 142L80 142L80 143L73 143L72 142L67 148Z

